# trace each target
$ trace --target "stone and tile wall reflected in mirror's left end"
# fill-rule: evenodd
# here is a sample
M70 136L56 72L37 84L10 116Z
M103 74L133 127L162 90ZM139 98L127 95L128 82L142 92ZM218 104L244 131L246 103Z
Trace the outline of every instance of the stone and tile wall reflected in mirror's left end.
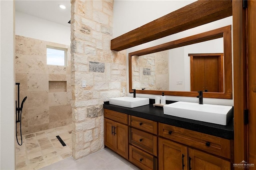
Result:
M132 56L132 88L169 90L168 50Z

